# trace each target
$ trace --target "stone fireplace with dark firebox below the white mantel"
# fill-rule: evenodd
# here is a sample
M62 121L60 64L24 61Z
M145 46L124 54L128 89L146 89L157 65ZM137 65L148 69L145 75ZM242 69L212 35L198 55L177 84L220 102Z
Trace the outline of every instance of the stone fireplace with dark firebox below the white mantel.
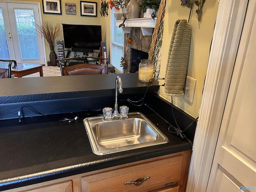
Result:
M132 38L131 44L128 44L128 38ZM140 59L148 58L151 39L152 36L143 36L140 28L130 28L130 34L124 34L124 58L126 60L124 73L136 72Z

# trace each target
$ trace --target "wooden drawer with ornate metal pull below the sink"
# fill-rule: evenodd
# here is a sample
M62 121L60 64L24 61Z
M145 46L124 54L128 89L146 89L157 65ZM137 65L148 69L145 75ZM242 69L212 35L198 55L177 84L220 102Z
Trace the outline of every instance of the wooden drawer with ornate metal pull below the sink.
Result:
M180 180L183 156L129 166L82 178L83 192L142 192L165 187ZM124 184L138 178L150 177L139 186Z

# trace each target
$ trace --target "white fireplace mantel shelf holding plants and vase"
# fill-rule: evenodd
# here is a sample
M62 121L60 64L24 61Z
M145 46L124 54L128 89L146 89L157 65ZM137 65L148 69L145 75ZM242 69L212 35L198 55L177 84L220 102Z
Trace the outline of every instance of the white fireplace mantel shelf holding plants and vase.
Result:
M119 26L123 23L123 20L116 20L116 26ZM126 19L124 22L124 27L122 27L122 30L124 33L130 33L130 27L140 27L143 36L152 36L153 29L156 24L156 18L155 20L150 18L138 18L138 19Z

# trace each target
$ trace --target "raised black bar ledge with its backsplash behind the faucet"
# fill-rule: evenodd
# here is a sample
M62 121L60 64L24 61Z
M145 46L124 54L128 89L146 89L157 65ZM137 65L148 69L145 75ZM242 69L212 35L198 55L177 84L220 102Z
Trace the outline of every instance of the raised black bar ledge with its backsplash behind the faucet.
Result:
M158 91L159 88L155 80L150 84L139 82L138 73L4 78L1 79L0 120L17 118L21 109L24 109L22 117L38 115L24 106L42 114L112 106L116 76L122 78L122 95L143 93L148 85L148 92Z

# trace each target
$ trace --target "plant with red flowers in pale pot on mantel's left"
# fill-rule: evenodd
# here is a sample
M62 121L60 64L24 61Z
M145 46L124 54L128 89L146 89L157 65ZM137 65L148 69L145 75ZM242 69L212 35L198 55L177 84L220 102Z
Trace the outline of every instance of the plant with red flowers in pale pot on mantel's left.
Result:
M113 10L116 20L124 19L126 17L124 0L108 0L108 4L110 9Z

